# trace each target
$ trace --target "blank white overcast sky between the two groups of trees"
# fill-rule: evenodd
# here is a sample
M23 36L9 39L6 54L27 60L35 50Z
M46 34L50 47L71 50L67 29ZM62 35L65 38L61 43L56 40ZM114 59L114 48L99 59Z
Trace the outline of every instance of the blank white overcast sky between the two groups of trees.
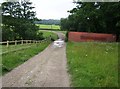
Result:
M30 0L39 19L60 19L68 16L68 10L75 7L73 0Z

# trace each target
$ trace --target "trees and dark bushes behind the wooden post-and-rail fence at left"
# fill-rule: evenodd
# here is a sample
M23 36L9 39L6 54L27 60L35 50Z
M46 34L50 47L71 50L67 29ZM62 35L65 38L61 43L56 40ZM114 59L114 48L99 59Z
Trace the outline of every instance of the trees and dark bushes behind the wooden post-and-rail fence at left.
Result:
M39 27L34 24L38 20L33 11L32 2L3 2L2 9L2 40L18 39L43 39L42 33L38 33Z

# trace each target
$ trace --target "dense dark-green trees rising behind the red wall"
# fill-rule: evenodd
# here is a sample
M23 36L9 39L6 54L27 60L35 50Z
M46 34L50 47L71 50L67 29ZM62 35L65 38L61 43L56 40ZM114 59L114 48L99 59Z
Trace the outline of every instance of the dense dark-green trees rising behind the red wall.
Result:
M120 36L120 2L75 2L61 29L78 32L112 33Z

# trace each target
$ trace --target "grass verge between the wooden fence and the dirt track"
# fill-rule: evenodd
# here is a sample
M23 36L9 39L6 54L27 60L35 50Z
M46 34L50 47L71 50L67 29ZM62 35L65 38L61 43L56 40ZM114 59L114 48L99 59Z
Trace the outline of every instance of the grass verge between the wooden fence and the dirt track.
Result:
M25 50L19 50L16 52L10 52L2 55L2 73L5 74L20 64L24 63L34 55L43 51L50 42L43 42L31 45L30 48ZM20 47L20 46L19 46ZM3 49L4 50L4 49Z

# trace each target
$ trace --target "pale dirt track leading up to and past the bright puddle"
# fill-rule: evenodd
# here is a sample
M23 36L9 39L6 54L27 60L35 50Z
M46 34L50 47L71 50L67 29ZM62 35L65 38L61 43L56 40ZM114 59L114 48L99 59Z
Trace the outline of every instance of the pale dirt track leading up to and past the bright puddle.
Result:
M62 33L57 33L64 38ZM66 44L43 52L3 76L3 87L69 87L66 66Z

